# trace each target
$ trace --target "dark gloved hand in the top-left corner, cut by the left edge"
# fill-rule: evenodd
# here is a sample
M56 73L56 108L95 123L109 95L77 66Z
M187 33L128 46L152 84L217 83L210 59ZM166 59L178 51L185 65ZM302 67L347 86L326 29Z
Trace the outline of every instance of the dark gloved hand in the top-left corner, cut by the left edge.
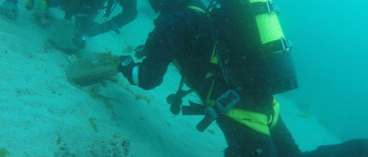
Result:
M18 17L17 0L6 0L0 6L0 13L4 17L15 20Z

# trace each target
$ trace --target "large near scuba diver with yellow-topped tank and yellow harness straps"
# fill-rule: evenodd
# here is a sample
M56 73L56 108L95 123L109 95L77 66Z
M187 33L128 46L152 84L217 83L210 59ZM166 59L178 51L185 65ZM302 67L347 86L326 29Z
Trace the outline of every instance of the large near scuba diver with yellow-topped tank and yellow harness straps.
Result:
M203 132L213 121L223 131L226 157L361 157L368 139L321 146L302 153L279 115L273 95L298 88L291 42L270 0L149 0L160 12L145 45L121 56L118 68L130 84L151 90L163 82L170 63L182 79L167 97L174 115L205 115ZM219 5L220 4L220 7ZM190 90L183 90L186 84ZM203 104L181 105L195 92ZM212 145L209 143L209 145Z

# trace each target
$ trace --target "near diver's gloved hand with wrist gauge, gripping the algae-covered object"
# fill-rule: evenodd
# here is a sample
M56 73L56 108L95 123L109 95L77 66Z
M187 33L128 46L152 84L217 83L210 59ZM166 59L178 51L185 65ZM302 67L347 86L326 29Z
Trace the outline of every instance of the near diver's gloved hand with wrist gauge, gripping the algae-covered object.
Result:
M130 55L120 56L119 59L121 62L118 65L118 71L123 73L123 76L128 79L130 84L134 84L132 78L132 70L133 67L137 66L138 64L133 61L133 58Z

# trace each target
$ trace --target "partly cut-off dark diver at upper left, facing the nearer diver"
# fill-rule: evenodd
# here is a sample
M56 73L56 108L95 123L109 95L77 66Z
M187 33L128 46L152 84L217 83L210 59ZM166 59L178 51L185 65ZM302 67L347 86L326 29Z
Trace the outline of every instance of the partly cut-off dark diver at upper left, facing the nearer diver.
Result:
M18 0L6 0L0 6L1 15L15 20L18 16ZM105 3L107 5L105 6ZM119 5L122 12L110 19L110 14ZM73 38L73 44L79 49L84 49L86 36L93 37L113 30L120 34L119 28L133 21L138 14L137 0L28 0L25 8L35 10L35 16L42 27L49 25L50 15L48 8L59 7L65 12L64 19L71 21L75 17L75 23L79 32ZM102 11L103 22L94 22L94 19Z

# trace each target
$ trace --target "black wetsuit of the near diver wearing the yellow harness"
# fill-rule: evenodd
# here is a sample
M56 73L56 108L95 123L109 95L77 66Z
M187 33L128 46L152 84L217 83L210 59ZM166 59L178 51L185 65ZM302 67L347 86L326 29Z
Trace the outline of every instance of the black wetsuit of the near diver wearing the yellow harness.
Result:
M134 81L134 72L132 75L125 76L130 83L150 90L162 83L167 67L173 60L176 60L181 67L181 75L188 78L190 86L199 91L201 99L205 100L208 88L205 88L202 83L211 68L209 60L214 45L209 23L206 15L188 8L160 15L154 21L155 29L149 34L145 43L147 56L142 63L136 66L138 67L136 73L138 81ZM224 83L223 78L214 79L217 80L217 88L214 91L223 93L230 89ZM268 114L272 105L272 96L243 95L243 102L246 105L238 105L236 108ZM222 129L229 145L225 151L226 157L298 157L304 155L281 118L276 126L270 129L270 136L227 116L220 116L217 124ZM208 145L213 144L215 143L208 143ZM313 156L318 156L318 152L314 153L316 155Z

